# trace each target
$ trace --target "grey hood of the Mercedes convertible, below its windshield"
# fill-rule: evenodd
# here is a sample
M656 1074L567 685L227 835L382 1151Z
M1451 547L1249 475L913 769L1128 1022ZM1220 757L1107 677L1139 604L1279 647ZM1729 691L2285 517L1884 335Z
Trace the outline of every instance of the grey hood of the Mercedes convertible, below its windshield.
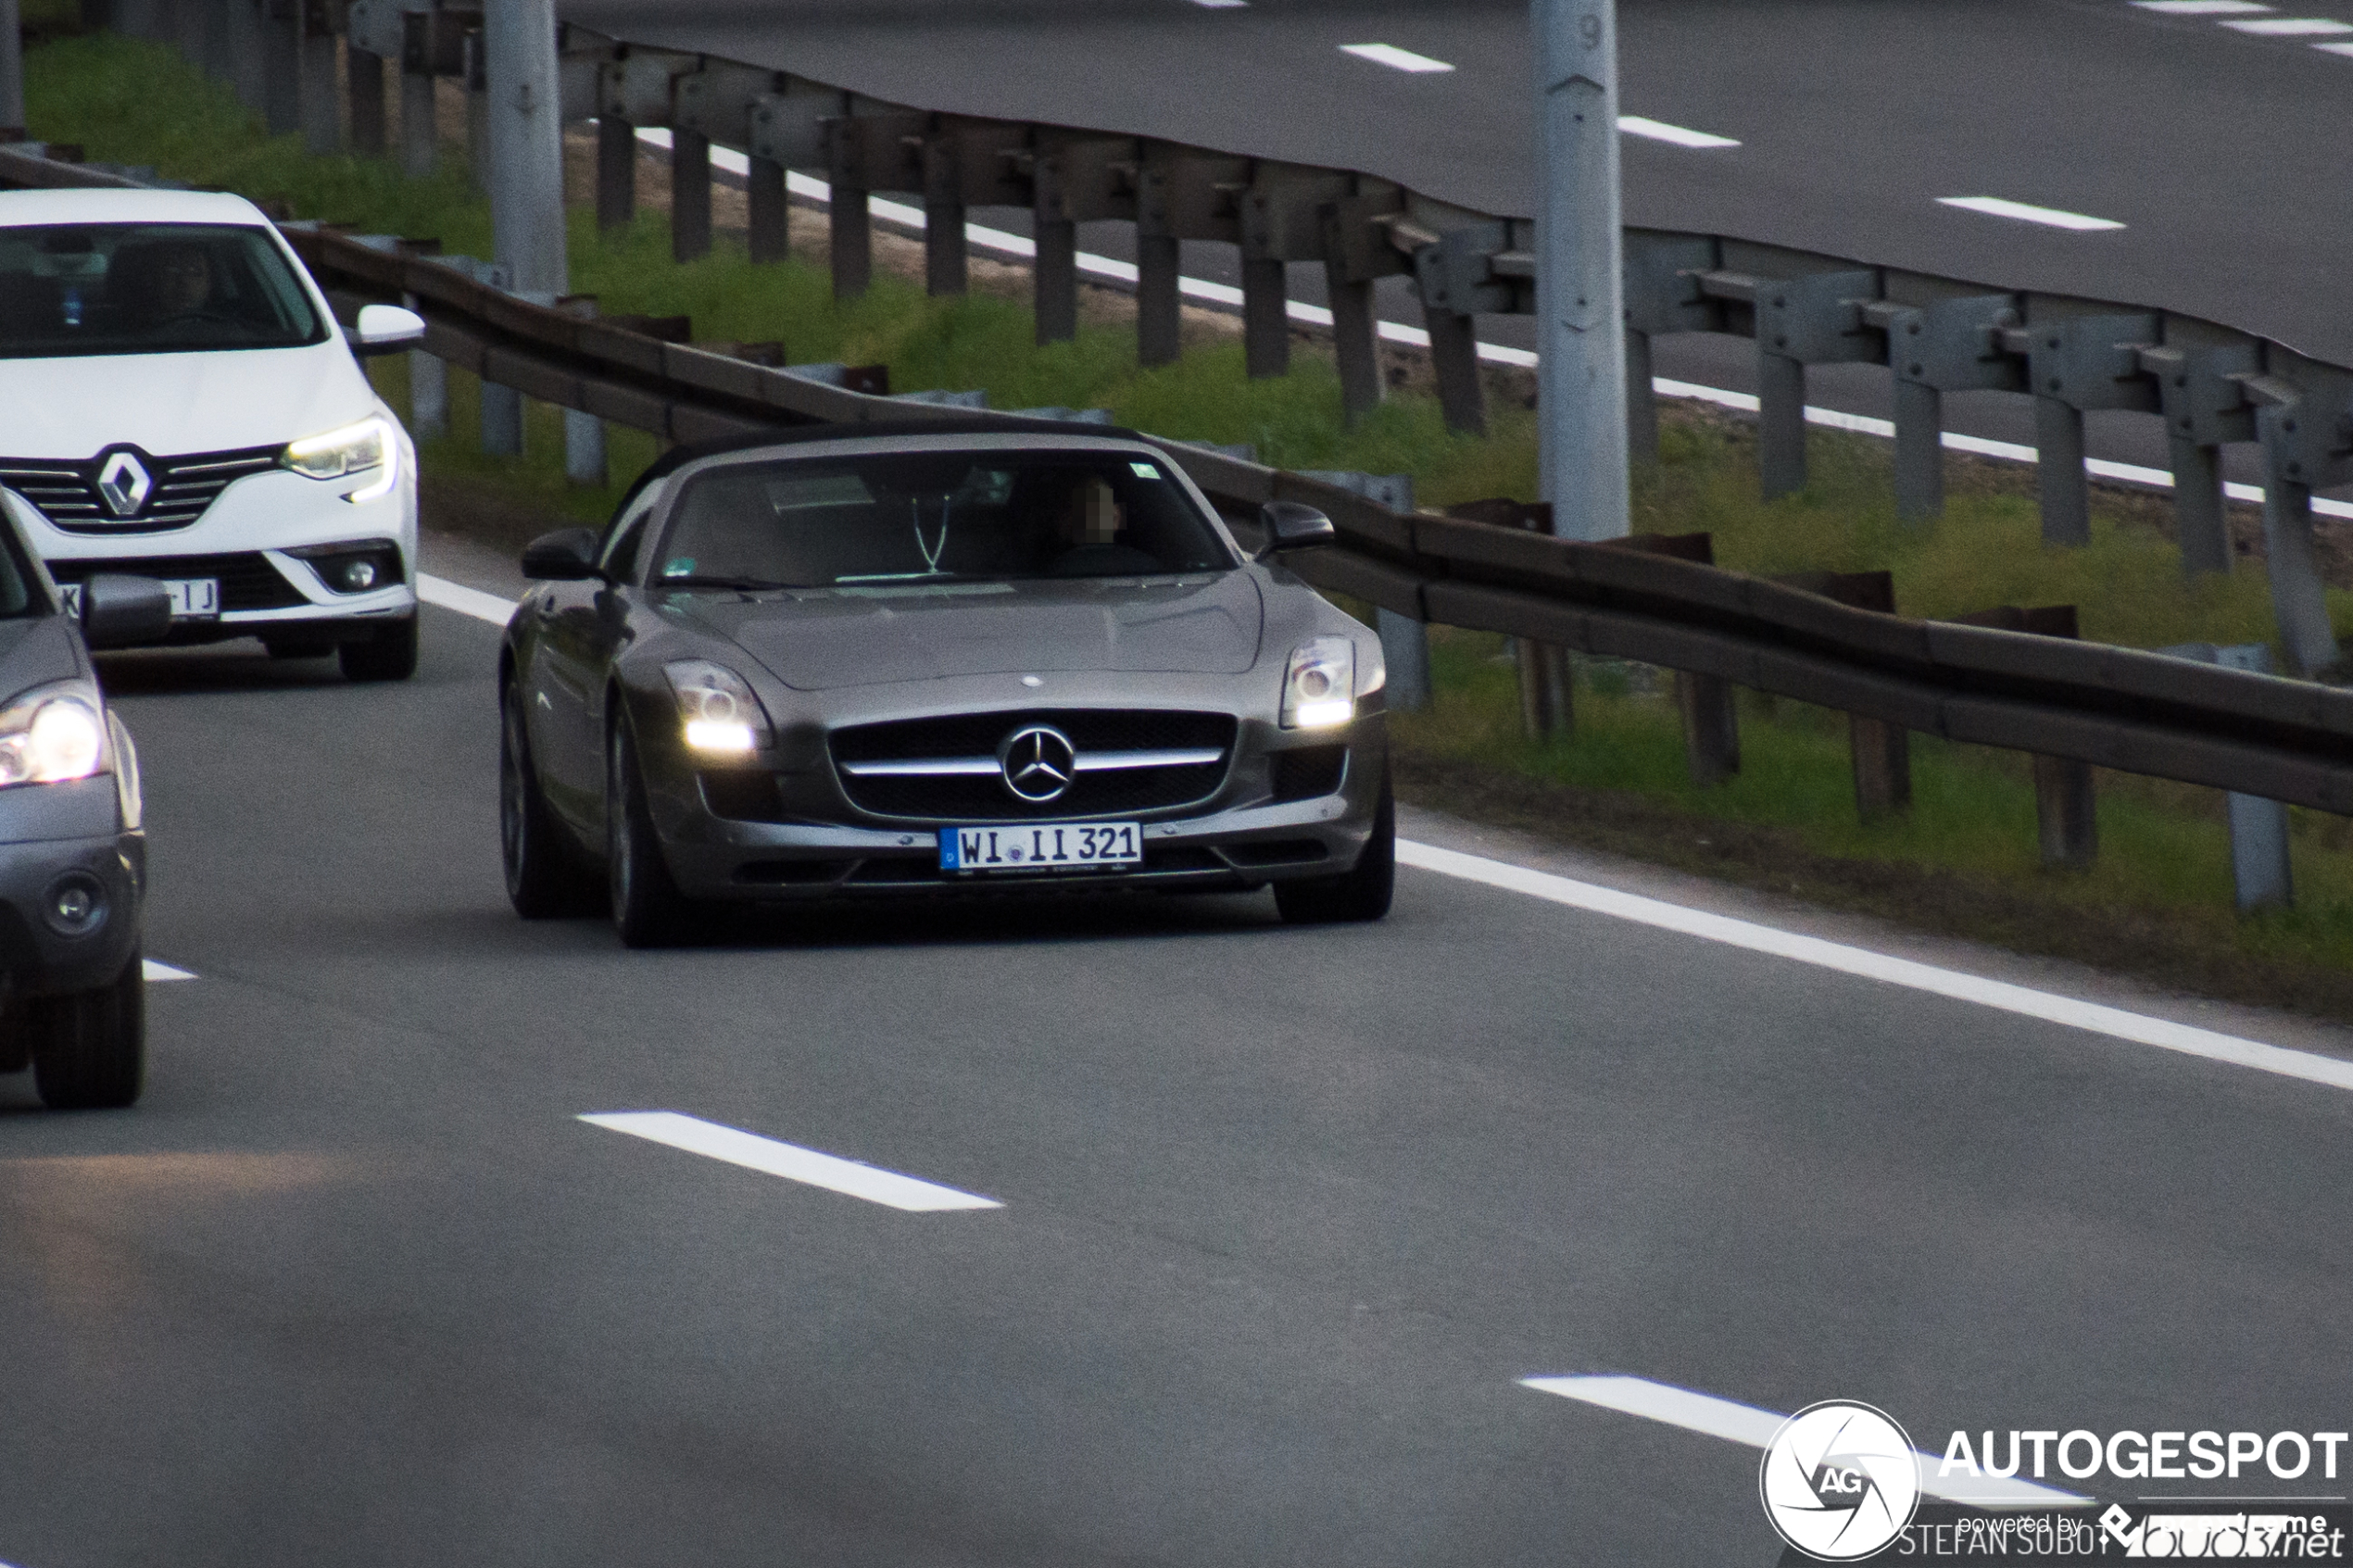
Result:
M802 691L1000 672L1242 675L1266 616L1247 571L828 588L704 599L689 614Z

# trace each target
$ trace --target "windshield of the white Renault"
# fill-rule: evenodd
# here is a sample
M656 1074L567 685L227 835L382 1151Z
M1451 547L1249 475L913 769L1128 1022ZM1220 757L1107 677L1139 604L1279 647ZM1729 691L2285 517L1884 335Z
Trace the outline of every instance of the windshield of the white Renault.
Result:
M0 360L301 348L325 336L264 228L0 228Z

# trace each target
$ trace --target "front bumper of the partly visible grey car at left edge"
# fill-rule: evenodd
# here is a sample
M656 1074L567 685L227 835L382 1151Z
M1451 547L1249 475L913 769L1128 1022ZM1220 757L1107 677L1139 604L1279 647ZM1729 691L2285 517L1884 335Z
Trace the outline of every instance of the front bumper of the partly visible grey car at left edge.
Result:
M87 877L104 917L61 931L45 910ZM47 997L106 985L139 950L146 835L122 827L108 773L0 790L0 990Z

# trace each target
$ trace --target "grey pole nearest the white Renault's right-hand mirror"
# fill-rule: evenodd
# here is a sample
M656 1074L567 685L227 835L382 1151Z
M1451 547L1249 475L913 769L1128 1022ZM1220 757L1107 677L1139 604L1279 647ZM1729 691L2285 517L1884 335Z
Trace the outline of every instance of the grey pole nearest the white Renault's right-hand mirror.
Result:
M518 294L569 294L553 0L489 0L482 54L492 254Z

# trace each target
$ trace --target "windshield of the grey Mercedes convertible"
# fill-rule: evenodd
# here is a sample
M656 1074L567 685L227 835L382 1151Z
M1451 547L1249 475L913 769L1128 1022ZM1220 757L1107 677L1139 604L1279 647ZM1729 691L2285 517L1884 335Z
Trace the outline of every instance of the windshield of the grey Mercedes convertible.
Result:
M692 480L654 585L854 588L1224 571L1165 461L1127 451L885 451Z

